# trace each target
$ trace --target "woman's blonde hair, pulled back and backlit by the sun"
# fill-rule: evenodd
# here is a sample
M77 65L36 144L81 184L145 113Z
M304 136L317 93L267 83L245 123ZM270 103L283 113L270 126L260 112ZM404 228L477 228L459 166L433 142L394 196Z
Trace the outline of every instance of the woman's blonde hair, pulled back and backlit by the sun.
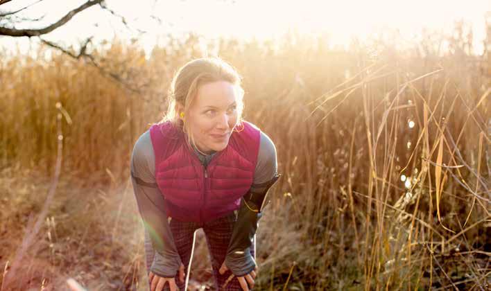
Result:
M237 125L242 125L241 117L243 112L243 95L241 87L241 76L230 64L221 58L199 58L191 60L180 67L175 73L169 89L169 107L164 118L160 122L170 121L177 128L180 128L187 136L187 143L193 145L196 150L196 142L193 134L189 131L189 125L186 118L182 121L176 112L176 103L184 107L184 116L187 116L189 108L193 104L198 89L201 85L211 82L227 81L234 85L238 91L239 98L237 101ZM235 130L235 127L234 127ZM200 150L198 150L201 152ZM202 154L205 154L201 152Z

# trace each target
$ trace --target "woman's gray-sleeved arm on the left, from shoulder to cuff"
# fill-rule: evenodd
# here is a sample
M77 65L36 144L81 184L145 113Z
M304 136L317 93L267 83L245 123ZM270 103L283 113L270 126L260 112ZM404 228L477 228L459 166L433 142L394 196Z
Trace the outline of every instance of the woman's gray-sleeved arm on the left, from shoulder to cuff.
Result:
M173 278L181 260L164 209L164 197L155 182L155 157L149 132L142 134L131 155L131 181L138 210L155 256L151 272L165 278Z

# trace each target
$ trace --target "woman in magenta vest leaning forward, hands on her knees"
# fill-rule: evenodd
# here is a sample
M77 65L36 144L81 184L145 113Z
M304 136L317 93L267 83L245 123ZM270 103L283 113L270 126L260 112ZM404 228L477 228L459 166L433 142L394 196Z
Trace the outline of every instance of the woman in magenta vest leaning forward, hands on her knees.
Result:
M221 59L188 62L173 78L166 116L135 143L131 175L151 290L184 290L199 228L216 290L254 286L252 238L279 175L273 142L241 120L240 80Z

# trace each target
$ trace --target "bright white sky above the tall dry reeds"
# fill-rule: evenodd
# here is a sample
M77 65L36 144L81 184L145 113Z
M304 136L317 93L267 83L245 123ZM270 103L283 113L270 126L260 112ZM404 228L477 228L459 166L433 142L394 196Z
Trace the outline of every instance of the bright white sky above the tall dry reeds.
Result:
M3 10L16 8L36 0L14 0L1 6ZM45 0L26 10L26 15L40 16L49 11L44 24L59 19L64 12L85 0ZM146 30L141 43L149 51L158 42L158 35L182 35L189 31L207 38L220 36L250 39L274 38L288 30L313 35L329 35L332 44L347 44L352 37L363 39L381 28L399 28L406 39L411 39L423 27L449 30L455 19L472 23L474 43L485 35L485 12L491 12L490 0L107 0L107 6L126 17L130 26ZM15 5L17 4L17 6ZM135 4L138 3L138 4ZM155 15L162 24L150 18ZM490 16L491 18L491 16ZM30 26L32 24L27 24ZM40 24L42 26L42 24ZM98 7L89 8L48 37L67 44L89 35L111 39L115 33L130 38L132 33L123 28L119 19ZM9 42L0 38L0 44ZM482 50L482 45L478 51Z

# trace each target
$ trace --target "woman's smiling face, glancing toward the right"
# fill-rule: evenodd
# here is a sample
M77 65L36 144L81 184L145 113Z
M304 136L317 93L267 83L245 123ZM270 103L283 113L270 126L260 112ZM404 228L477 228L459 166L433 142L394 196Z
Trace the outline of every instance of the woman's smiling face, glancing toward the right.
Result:
M198 87L186 122L198 149L209 154L227 147L237 123L238 92L227 81L210 82Z

